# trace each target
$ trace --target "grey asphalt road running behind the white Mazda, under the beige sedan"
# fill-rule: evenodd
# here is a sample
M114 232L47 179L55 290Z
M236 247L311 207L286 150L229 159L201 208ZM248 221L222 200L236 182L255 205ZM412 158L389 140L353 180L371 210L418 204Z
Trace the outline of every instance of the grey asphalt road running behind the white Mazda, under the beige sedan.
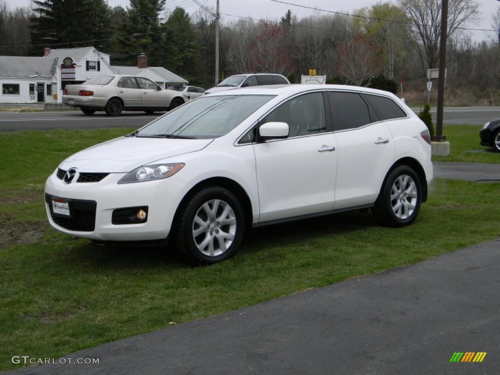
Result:
M418 113L420 108L412 108ZM134 127L139 128L164 112L152 115L143 112L123 112L118 117L106 116L97 112L87 116L80 111L53 112L0 112L0 131L30 129L90 129L98 127ZM435 121L435 108L431 109ZM500 107L449 107L444 108L443 123L465 123L482 125L487 121L500 118Z

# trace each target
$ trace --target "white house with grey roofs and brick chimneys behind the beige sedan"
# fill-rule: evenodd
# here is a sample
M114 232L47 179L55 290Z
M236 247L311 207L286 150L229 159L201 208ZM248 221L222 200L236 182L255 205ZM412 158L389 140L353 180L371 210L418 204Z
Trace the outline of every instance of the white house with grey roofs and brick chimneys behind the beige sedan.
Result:
M135 66L111 66L109 54L94 47L45 48L44 56L0 56L0 103L61 103L66 84L81 83L98 74L147 77L167 88L187 80L163 67L148 67L147 56Z

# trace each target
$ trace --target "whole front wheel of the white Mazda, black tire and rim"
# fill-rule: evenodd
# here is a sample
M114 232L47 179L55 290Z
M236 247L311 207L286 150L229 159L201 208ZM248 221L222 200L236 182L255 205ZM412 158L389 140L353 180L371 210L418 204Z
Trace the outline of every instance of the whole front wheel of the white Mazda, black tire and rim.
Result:
M233 256L245 229L243 208L221 186L208 186L179 207L172 237L190 264L212 264Z

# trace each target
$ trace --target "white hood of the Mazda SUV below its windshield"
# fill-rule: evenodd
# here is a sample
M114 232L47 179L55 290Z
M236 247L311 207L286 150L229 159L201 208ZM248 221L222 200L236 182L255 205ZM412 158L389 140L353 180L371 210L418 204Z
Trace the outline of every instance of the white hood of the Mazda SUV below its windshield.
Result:
M85 148L66 158L59 167L76 167L80 172L129 172L157 160L198 151L212 140L123 136ZM182 162L182 158L175 161Z

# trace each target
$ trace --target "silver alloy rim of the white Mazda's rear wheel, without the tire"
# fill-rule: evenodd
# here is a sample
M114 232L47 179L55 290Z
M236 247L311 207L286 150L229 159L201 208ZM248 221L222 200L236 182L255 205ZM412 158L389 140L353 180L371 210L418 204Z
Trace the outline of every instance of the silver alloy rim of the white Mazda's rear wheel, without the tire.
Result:
M401 174L392 184L390 191L390 205L394 215L405 219L413 213L418 199L418 190L415 181L407 175Z

